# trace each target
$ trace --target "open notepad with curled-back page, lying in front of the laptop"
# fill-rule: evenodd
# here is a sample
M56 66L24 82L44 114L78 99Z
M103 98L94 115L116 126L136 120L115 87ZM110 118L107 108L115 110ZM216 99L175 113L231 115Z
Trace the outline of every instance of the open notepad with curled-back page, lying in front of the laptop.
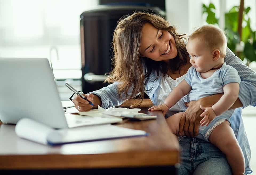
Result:
M60 145L148 135L142 130L123 128L111 124L56 130L28 118L18 121L15 126L15 132L19 137L44 145Z

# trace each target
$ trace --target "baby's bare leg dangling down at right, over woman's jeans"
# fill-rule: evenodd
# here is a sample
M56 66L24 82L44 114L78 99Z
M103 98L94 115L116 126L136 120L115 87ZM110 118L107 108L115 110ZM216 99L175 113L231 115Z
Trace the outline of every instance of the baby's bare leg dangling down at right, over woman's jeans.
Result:
M228 121L224 121L211 132L209 141L226 154L234 175L244 174L245 158Z

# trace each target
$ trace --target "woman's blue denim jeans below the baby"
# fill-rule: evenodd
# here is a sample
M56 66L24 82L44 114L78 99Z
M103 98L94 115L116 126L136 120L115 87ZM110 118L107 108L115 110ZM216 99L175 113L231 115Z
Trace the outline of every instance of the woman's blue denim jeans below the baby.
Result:
M178 175L232 175L225 154L210 142L179 137L181 153Z

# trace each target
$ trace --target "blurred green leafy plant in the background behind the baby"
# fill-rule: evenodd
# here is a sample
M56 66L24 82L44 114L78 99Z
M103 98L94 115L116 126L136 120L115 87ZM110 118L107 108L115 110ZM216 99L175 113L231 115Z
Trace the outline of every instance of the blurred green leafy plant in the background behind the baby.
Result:
M239 12L239 8L243 9ZM241 59L247 66L256 61L256 40L255 31L251 29L251 19L248 16L250 7L243 8L241 6L232 7L225 13L225 33L227 36L227 46ZM210 3L209 6L202 5L202 14L206 13L206 22L218 25L219 19L215 17L215 6ZM241 15L241 24L239 24L239 13ZM243 25L242 25L243 24ZM241 34L239 35L238 26L241 25Z

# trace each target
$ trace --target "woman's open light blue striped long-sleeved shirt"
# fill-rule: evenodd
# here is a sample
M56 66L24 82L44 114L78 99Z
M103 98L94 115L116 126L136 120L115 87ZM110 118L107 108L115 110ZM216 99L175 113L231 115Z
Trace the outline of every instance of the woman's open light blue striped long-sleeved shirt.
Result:
M249 105L256 106L256 73L251 68L246 66L241 59L235 56L235 54L229 48L227 48L225 62L227 65L234 67L241 78L238 98L242 102L243 108ZM156 72L152 72L149 77L149 81L147 84L145 84L146 89L151 89L150 91L146 91L146 93L154 105L156 105L158 96L158 91L156 91L156 89L159 87L161 78L162 75L157 78ZM121 96L119 96L118 84L119 82L114 82L107 87L103 87L102 89L93 91L91 93L94 93L101 98L101 106L103 108L121 105L125 100L128 99L128 97L123 93ZM132 89L133 87L129 89L128 94L131 94ZM252 173L250 168L251 150L243 125L241 108L235 109L230 118L230 123L245 156L245 174Z

